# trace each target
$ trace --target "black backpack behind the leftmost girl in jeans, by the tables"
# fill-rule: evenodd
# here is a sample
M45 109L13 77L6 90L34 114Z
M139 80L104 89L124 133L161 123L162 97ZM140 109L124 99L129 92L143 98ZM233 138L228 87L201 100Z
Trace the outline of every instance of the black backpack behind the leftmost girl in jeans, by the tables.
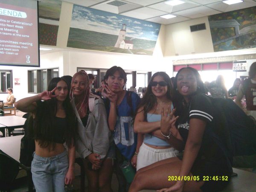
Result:
M29 135L29 124L32 123L32 115L30 115L24 124L24 136L20 140L20 163L30 167L35 151L35 140Z

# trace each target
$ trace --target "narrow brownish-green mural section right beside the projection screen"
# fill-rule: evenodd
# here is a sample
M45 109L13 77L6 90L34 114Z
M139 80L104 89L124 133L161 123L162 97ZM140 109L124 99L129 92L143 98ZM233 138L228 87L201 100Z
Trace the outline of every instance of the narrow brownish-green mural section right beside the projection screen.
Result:
M61 15L61 1L44 0L38 2L39 43L56 46Z

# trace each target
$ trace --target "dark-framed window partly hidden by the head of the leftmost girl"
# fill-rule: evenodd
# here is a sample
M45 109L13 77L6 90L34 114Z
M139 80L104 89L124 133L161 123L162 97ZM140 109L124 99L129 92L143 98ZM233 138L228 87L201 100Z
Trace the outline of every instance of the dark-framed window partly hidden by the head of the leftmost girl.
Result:
M28 71L29 93L41 93L47 90L49 82L54 77L58 77L58 68L40 69Z

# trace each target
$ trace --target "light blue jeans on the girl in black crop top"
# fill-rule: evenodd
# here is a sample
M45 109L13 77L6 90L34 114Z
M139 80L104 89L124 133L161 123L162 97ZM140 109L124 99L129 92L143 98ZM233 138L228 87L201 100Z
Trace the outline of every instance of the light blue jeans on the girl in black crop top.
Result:
M67 151L53 157L40 157L35 152L33 156L31 172L36 192L65 192Z

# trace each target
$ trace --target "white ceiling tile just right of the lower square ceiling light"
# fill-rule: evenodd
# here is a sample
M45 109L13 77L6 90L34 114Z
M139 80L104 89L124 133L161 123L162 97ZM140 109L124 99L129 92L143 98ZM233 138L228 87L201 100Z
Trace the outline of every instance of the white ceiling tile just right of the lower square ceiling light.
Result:
M204 17L204 16L208 16L208 15L215 15L221 13L219 11L216 11L214 9L210 9L204 6L200 6L200 7L195 7L192 9L186 9L180 12L175 12L175 15L180 15L183 17L189 17L191 19L195 19L198 17Z

